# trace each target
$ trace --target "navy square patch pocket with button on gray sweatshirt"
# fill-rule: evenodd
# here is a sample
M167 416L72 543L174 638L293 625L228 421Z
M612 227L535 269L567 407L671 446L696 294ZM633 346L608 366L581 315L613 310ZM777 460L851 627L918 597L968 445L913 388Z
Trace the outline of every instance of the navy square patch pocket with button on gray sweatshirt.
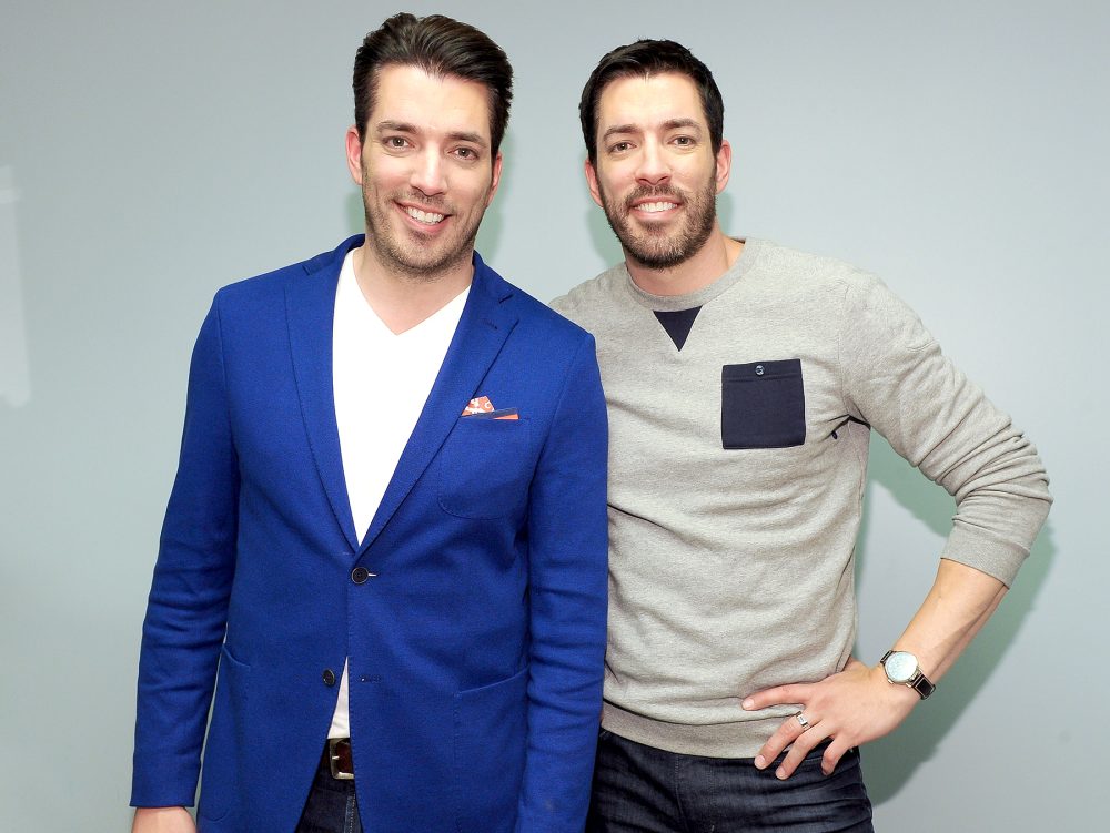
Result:
M805 441L806 392L800 358L720 368L724 448L789 448Z

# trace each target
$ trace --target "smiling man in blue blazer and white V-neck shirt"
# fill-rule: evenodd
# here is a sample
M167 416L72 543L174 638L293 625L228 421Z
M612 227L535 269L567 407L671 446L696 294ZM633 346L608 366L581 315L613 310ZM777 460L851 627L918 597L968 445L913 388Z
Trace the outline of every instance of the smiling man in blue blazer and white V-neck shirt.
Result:
M366 235L222 289L193 353L134 830L194 830L202 773L213 833L581 831L606 418L591 337L473 250L512 70L398 14L354 77Z

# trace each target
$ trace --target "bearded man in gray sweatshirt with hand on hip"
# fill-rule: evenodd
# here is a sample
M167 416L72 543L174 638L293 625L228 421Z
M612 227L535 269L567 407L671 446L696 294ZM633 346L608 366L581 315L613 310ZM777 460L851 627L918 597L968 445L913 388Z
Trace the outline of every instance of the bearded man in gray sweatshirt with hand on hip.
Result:
M609 413L588 830L869 831L856 749L998 606L1048 512L1045 468L876 277L722 232L724 106L688 50L608 53L581 118L625 253L553 304L594 334ZM871 428L957 514L920 610L867 664L852 581Z

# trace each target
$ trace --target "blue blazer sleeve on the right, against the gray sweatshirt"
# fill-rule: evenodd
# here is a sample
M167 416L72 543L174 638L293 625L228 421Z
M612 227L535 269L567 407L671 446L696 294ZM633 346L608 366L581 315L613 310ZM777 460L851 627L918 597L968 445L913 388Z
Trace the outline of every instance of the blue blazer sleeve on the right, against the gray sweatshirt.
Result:
M607 612L608 424L584 336L532 484L528 735L517 833L585 824L602 707Z

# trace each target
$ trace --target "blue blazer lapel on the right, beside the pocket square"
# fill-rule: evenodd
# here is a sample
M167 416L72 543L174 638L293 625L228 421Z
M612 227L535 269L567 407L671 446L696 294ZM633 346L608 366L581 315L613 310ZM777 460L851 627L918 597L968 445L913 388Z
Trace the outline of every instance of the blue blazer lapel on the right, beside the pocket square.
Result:
M454 428L463 408L481 393L478 385L516 326L516 315L504 303L512 294L513 287L475 252L474 278L455 335L360 552L389 524Z

